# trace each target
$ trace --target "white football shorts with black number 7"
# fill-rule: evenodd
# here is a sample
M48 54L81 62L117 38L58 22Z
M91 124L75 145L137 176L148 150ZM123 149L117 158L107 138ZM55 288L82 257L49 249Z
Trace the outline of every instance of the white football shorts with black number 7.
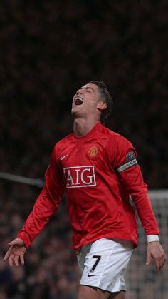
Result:
M80 285L90 285L111 293L125 290L123 272L132 251L108 238L83 246L78 253L82 273Z

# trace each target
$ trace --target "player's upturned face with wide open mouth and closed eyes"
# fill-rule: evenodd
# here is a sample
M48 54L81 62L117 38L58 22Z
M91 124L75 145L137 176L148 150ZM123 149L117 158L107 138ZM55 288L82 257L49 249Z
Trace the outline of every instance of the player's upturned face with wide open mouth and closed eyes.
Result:
M98 103L100 103L98 86L88 83L79 88L75 96L73 96L71 112L73 116L86 116L98 113Z

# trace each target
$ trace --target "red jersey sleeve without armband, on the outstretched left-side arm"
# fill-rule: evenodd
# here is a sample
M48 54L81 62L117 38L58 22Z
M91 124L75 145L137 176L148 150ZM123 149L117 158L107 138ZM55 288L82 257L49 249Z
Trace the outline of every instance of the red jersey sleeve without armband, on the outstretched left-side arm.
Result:
M56 148L53 150L51 164L46 171L45 181L45 186L38 196L33 210L17 235L17 238L21 238L26 247L31 245L44 225L48 223L53 213L56 212L65 190L63 173L56 161Z

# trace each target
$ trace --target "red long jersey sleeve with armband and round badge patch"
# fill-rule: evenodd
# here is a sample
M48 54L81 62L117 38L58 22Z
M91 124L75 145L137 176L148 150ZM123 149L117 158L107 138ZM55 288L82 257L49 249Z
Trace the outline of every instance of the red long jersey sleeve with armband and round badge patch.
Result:
M147 194L147 184L144 183L137 163L135 148L130 141L120 135L110 141L108 148L110 164L119 176L125 193L132 197L146 235L159 235L157 221Z

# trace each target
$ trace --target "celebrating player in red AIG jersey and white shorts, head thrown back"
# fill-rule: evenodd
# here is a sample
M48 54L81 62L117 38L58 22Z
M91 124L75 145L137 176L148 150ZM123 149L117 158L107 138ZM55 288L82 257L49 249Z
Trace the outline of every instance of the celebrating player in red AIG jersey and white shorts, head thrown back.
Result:
M147 261L157 272L166 256L147 196L135 148L102 123L112 110L107 86L91 81L73 97L73 133L59 141L46 172L46 184L26 224L9 245L4 260L24 263L26 248L57 210L66 191L73 248L82 272L78 299L125 298L123 272L137 244L137 208L147 235Z

